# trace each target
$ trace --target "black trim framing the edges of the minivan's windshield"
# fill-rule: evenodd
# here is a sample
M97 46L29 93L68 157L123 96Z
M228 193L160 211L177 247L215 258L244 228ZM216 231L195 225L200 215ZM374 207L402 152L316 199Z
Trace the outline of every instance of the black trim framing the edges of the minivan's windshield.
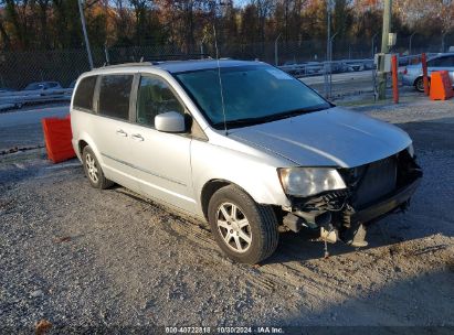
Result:
M276 67L276 66L274 66L274 65L270 65L270 64L260 64L260 65L257 65L257 64L251 64L251 65L224 66L224 67L221 67L221 69L222 69L222 68L235 68L235 67L256 67L256 66L270 66L270 67L272 67L272 68L277 68L278 71L282 71L281 68L278 68L278 67ZM187 87L187 86L181 82L181 79L178 77L178 75L180 75L180 74L205 72L205 71L212 71L212 69L217 69L217 67L207 67L207 68L201 68L201 69L180 71L180 72L176 72L176 73L170 73L170 75L178 82L178 84L181 86L181 88L184 90L184 93L188 95L188 97L191 99L191 101L197 106L197 108L199 109L200 114L202 115L202 117L203 117L203 119L207 121L207 123L209 123L210 127L212 127L212 128L215 129L215 130L223 130L223 129L224 129L224 122L213 122L213 121L207 116L207 111L200 106L200 104L197 101L197 99L196 99L196 97L192 95L192 93L188 89L188 87ZM287 74L287 75L289 75L289 74ZM289 75L289 76L291 76L291 75ZM245 125L236 125L236 126L230 126L230 127L229 127L229 122L234 121L234 120L230 120L230 121L226 122L226 125L228 125L226 128L228 128L228 129L245 128L245 127L251 127L251 126L254 126L254 125L274 122L274 121L282 120L282 119L286 119L286 118L297 117L297 116L303 115L303 114L315 112L315 111L319 111L319 110L324 110L324 109L329 109L329 108L336 107L335 104L328 101L328 100L327 100L325 97L323 97L317 90L315 90L315 89L312 88L310 86L307 86L306 84L304 84L304 83L303 83L302 80L299 80L298 78L296 78L296 77L294 77L294 78L295 78L300 85L303 85L303 86L305 86L306 88L310 89L314 94L316 94L318 97L320 97L321 100L324 100L324 101L328 105L328 107L326 107L326 108L318 108L318 106L309 106L309 107L302 108L302 109L298 109L298 110L312 109L312 108L314 108L315 110L302 111L300 114L284 116L284 117L282 117L282 118L276 118L275 120L265 120L265 121L263 121L263 122L258 121L258 122L254 122L254 123L251 123L251 125L245 123ZM320 104L319 106L323 106L323 104ZM281 114L287 114L287 112L288 112L288 114L293 114L293 112L295 112L295 110L284 111L284 112L281 112ZM279 114L279 115L281 115L281 114ZM277 115L277 114L276 114L276 115ZM268 116L268 117L273 117L273 116ZM257 119L260 119L260 118L257 118ZM240 122L241 119L240 119L240 120L236 120L236 121Z

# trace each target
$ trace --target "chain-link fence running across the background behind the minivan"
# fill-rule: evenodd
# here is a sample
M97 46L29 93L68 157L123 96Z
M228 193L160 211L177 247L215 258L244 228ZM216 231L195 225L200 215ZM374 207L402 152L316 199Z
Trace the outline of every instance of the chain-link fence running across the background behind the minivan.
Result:
M285 42L278 37L270 43L228 44L219 46L218 53L211 43L199 43L181 50L175 45L103 47L92 51L94 66L140 61L169 61L215 57L260 60L279 66L287 73L302 78L328 98L374 93L376 72L373 54L377 53L380 35L370 39L332 39L332 56L327 62L326 41ZM454 35L425 41L418 34L398 40L392 52L401 55L421 52L447 51L454 45ZM402 56L401 65L419 58ZM22 90L30 83L57 82L62 87L71 84L84 72L89 71L85 48L0 52L0 96L6 89ZM2 93L3 90L3 93ZM67 93L66 93L67 95ZM0 99L1 100L1 99ZM0 101L1 102L1 101ZM0 104L1 105L1 104Z

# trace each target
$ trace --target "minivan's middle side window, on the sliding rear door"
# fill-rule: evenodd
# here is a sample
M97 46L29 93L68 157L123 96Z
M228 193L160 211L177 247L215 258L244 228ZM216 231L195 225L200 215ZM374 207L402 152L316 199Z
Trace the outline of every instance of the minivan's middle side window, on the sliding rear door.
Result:
M133 75L103 76L99 87L99 110L104 116L128 120Z

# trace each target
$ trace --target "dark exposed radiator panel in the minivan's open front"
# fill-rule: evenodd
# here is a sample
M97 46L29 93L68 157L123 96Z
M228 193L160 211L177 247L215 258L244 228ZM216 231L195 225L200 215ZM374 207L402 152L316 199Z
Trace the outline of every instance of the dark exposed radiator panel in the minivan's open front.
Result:
M353 197L353 206L361 208L373 203L382 196L393 192L397 186L397 158L390 156L370 163L362 169Z

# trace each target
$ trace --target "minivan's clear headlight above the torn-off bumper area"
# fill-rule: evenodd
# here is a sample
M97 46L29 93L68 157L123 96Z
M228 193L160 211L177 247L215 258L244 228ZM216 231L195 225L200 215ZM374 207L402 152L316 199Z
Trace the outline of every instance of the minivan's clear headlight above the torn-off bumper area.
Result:
M288 168L277 170L284 192L294 196L308 196L324 191L346 188L335 169Z

